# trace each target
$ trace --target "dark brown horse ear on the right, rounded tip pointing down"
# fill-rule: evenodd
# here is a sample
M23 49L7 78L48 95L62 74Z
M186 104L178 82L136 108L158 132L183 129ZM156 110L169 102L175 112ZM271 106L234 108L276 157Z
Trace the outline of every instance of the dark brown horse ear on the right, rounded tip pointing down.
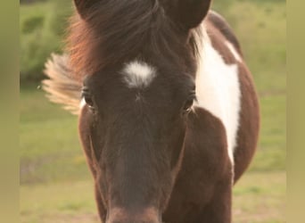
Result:
M161 0L169 17L183 29L197 27L210 10L211 0Z

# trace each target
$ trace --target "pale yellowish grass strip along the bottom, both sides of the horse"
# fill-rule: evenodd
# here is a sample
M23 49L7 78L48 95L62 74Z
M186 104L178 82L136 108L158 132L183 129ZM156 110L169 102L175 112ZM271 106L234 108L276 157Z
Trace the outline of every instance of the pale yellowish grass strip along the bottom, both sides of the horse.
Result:
M283 172L245 175L235 186L233 222L284 223L285 189ZM21 222L99 222L92 181L21 186Z

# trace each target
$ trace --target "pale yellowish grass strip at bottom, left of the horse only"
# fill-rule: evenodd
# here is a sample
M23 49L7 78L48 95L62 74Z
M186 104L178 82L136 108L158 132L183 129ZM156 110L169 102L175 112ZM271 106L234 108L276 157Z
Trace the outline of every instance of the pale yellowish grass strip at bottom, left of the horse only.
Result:
M21 186L21 222L98 222L93 181Z

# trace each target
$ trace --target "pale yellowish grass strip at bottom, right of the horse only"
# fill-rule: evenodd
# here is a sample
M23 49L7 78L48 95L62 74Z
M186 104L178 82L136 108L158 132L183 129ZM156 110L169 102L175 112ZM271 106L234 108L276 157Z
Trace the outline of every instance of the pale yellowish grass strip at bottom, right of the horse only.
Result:
M284 172L248 173L233 194L234 223L284 223Z

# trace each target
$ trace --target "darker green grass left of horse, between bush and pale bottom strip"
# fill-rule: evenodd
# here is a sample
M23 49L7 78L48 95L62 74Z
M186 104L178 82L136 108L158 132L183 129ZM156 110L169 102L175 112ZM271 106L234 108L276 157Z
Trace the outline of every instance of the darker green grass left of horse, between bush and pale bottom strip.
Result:
M77 122L42 90L21 89L21 184L87 178Z

